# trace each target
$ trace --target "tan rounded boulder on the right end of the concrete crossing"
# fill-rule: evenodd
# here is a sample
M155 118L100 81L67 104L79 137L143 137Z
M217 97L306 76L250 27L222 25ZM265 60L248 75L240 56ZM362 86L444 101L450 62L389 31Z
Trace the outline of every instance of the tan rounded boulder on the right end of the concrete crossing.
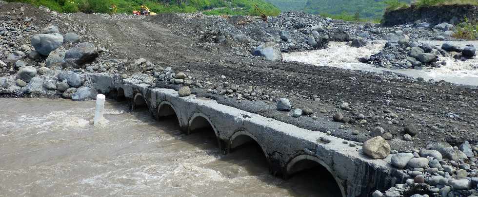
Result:
M390 144L378 136L363 143L363 152L373 159L383 159L390 155Z

